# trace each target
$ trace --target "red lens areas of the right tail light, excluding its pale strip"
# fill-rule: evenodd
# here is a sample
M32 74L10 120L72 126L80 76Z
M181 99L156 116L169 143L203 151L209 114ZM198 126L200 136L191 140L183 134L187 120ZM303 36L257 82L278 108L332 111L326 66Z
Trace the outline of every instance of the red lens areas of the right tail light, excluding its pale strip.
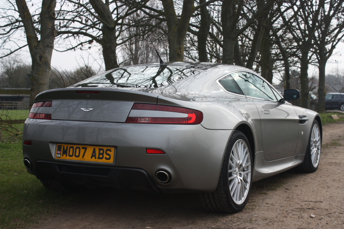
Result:
M132 110L155 110L188 114L185 118L175 117L128 117L126 123L145 124L200 124L203 120L203 113L198 110L178 106L166 106L157 104L134 103Z

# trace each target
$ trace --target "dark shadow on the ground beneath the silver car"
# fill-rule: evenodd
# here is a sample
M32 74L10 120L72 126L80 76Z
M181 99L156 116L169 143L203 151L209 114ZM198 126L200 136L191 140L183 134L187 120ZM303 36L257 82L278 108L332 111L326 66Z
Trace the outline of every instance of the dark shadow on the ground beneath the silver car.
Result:
M283 187L289 180L304 174L289 170L279 175L253 183L251 196L254 199L274 195L274 190ZM69 194L70 204L61 218L85 220L103 226L111 224L122 227L187 226L190 223L208 224L214 218L220 220L227 214L207 212L201 208L198 195L153 194L142 191L121 191L115 189L85 189ZM240 214L240 213L237 213ZM233 214L231 216L235 216ZM158 225L157 225L158 224ZM184 225L185 224L185 225Z

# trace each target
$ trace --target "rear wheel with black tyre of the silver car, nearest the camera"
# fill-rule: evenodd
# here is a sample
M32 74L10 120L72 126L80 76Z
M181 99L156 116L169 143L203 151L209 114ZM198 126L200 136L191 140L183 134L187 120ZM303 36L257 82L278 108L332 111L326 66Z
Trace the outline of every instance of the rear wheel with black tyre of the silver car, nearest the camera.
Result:
M230 137L216 190L199 195L202 207L220 213L244 209L251 192L252 162L250 143L243 132L236 130Z

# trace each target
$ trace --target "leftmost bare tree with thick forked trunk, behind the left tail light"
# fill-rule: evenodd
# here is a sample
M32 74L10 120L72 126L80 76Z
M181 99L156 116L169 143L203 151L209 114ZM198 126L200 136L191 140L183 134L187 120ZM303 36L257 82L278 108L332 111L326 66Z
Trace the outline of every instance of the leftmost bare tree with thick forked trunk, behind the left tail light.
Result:
M7 0L8 8L2 8L0 39L4 47L20 29L24 28L27 43L17 48L8 50L2 57L28 46L31 56L31 98L33 103L36 95L48 89L51 70L51 58L56 36L56 0L42 0L40 13L32 14L25 0ZM11 11L11 12L9 12ZM18 15L18 17L16 17ZM39 19L38 19L39 16Z

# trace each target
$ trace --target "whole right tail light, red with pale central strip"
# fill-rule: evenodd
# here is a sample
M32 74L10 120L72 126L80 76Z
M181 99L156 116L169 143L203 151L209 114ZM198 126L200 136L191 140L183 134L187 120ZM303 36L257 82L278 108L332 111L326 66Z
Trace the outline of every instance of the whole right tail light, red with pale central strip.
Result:
M126 123L200 124L203 113L178 106L134 103Z

